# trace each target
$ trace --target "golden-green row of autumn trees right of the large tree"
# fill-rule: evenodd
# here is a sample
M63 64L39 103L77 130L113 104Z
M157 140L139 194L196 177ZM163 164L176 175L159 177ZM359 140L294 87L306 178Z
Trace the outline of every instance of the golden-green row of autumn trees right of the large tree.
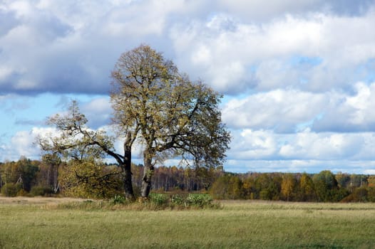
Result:
M225 174L210 188L217 199L375 202L375 176L358 174Z

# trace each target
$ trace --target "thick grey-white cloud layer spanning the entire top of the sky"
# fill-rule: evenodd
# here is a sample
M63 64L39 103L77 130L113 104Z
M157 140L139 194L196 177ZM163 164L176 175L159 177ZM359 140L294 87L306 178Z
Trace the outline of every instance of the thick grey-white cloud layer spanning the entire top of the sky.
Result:
M371 3L6 1L0 92L107 93L120 53L145 41L227 94L350 90L375 56ZM296 56L321 63L295 65Z

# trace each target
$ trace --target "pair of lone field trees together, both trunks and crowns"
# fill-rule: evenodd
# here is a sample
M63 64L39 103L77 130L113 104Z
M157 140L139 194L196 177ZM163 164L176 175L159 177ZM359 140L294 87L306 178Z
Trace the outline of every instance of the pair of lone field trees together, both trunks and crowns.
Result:
M123 53L112 78L113 125L117 137L123 138L123 153L115 152L114 137L86 127L76 102L68 115L50 118L61 136L40 139L43 149L73 158L113 157L122 170L127 198L134 196L130 166L135 142L143 151L142 197L150 193L155 164L165 159L180 159L193 168L222 165L230 133L221 122L221 95L200 81L192 82L150 46Z

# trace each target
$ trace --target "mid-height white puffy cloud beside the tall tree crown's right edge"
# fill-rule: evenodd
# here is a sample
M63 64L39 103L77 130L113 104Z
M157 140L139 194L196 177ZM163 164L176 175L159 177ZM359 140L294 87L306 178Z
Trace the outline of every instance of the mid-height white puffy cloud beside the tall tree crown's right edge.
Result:
M222 110L222 119L235 129L295 132L299 124L314 122L328 102L327 95L320 93L280 89L259 92L227 102Z

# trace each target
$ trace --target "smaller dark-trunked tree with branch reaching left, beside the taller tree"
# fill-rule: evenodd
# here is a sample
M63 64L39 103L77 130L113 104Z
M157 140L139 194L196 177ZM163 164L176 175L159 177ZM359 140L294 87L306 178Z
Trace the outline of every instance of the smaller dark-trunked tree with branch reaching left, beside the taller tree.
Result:
M48 119L48 124L58 130L57 136L38 137L37 142L41 149L47 153L55 153L74 164L101 167L103 157L113 157L118 162L123 189L126 198L133 199L133 185L131 179L131 146L135 134L128 132L125 136L124 152L119 154L113 147L114 137L103 130L89 129L88 120L83 115L76 101L71 103L65 115L54 115ZM108 173L111 176L113 172ZM78 177L78 175L77 175ZM87 176L86 176L87 177ZM106 175L100 176L106 179Z

